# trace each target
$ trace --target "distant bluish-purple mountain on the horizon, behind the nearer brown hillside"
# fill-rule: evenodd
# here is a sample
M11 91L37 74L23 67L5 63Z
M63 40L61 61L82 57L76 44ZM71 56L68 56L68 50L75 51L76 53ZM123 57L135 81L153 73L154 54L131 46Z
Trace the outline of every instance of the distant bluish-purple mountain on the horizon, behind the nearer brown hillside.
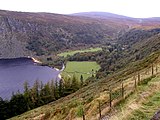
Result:
M74 16L85 16L90 18L105 20L106 22L112 21L113 23L121 23L128 25L129 28L137 28L137 29L153 29L160 27L160 18L131 18L123 15L117 15L113 13L107 12L82 12L75 13Z

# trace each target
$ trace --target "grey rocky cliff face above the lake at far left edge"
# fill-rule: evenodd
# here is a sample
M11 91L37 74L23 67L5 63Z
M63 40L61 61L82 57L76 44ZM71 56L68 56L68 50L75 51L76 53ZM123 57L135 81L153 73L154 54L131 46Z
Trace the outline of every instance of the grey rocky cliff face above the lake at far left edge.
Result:
M29 55L29 51L25 48L27 43L22 40L26 38L26 35L20 28L17 30L16 25L13 24L15 21L7 17L0 17L0 57Z

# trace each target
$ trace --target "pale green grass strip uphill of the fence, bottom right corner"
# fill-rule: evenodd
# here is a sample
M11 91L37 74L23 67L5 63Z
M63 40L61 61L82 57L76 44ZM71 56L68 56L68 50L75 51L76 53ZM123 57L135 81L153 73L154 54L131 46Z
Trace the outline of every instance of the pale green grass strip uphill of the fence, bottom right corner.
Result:
M142 84L125 102L111 112L110 120L149 120L159 110L160 74ZM107 116L105 116L107 117Z

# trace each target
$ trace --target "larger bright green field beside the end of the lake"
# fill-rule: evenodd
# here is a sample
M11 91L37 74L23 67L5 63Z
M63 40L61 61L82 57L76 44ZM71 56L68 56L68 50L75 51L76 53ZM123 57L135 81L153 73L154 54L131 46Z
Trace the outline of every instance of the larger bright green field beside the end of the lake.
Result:
M73 77L75 74L78 79L83 75L83 79L87 79L92 76L93 72L100 69L100 66L96 62L67 62L66 69L62 73L63 77Z

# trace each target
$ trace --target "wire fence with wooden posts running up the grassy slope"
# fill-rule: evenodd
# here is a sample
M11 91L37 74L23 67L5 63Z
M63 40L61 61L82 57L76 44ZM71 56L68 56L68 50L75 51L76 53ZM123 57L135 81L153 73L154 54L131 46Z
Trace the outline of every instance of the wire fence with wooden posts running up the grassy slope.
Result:
M102 110L108 107L108 111L119 103L121 100L125 100L129 95L134 93L139 85L145 84L155 74L160 72L160 61L155 61L151 65L147 66L143 70L137 71L132 75L129 75L123 79L118 79L110 84L106 88L107 102L98 100L98 112L99 120L102 119ZM84 109L83 109L84 110ZM83 120L86 120L85 110L83 111Z

